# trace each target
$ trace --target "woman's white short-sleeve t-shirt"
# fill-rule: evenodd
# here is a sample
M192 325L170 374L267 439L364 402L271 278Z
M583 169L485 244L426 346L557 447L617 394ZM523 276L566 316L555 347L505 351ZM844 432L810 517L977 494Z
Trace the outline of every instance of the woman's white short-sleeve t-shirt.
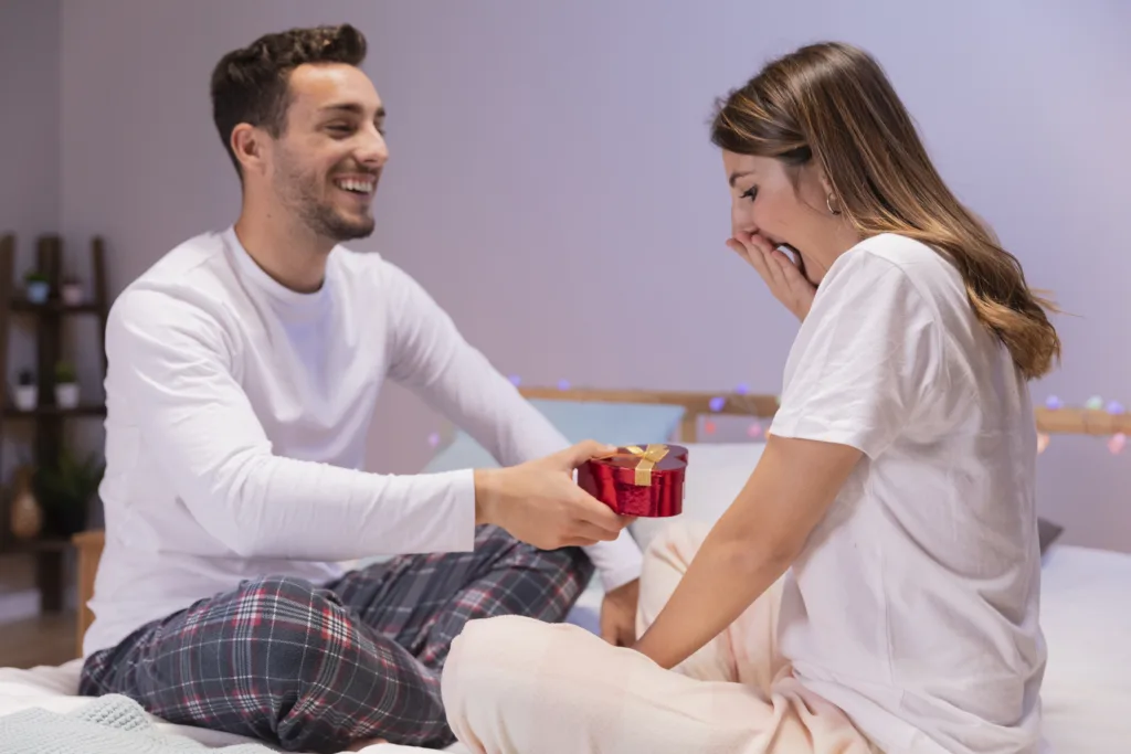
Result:
M837 259L770 431L865 454L786 577L798 678L886 752L1042 751L1034 414L955 267L892 234Z

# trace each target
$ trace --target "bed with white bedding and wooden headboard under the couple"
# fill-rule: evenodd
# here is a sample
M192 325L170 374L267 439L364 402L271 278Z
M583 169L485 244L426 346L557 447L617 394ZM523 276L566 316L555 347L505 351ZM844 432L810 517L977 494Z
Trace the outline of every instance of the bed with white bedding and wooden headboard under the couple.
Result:
M757 436L741 442L711 441L715 437L701 436L702 430L710 431L719 417L768 425L777 408L774 396L761 395L558 388L524 388L523 392L570 441L592 436L628 444L677 439L690 450L683 515L708 523L737 494L758 462L762 442ZM1131 426L1123 426L1131 424L1125 417L1104 411L1037 409L1036 418L1038 428L1046 433L1131 433ZM484 449L454 431L424 470L493 465ZM667 523L638 520L632 535L646 546ZM80 605L90 593L101 544L96 531L76 538ZM1131 555L1057 543L1048 547L1042 575L1042 625L1050 660L1042 697L1045 735L1054 752L1122 754L1131 740L1129 595ZM601 597L598 580L594 580L568 619L595 630ZM89 619L83 609L77 640ZM88 704L90 700L75 695L78 670L79 660L31 670L0 668L0 717L29 708L69 712ZM242 740L155 722L170 736L206 746ZM396 754L423 749L373 745L363 751ZM450 751L466 749L457 745Z

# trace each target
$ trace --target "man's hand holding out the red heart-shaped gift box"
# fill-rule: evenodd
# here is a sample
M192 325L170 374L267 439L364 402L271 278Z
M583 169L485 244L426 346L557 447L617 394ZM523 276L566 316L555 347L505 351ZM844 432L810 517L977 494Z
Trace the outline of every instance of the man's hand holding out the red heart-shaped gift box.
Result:
M573 482L578 466L613 450L587 440L519 466L476 469L476 523L493 523L541 549L616 539L631 519L618 515Z

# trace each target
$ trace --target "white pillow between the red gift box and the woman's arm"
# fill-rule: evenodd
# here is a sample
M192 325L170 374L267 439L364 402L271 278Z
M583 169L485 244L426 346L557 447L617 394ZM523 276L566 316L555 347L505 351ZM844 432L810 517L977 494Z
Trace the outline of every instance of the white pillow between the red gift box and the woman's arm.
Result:
M683 480L683 513L664 519L637 519L630 527L641 549L668 526L680 520L714 526L750 479L762 457L761 442L683 443L688 471Z

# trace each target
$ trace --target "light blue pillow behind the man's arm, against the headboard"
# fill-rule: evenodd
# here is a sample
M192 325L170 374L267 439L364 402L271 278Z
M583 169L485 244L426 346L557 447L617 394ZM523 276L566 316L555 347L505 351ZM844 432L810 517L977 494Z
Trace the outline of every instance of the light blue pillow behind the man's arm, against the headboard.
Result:
M614 445L666 442L675 434L685 410L682 406L589 400L534 399L530 405L571 443L598 440ZM451 443L429 460L422 474L498 466L483 445L460 430Z

